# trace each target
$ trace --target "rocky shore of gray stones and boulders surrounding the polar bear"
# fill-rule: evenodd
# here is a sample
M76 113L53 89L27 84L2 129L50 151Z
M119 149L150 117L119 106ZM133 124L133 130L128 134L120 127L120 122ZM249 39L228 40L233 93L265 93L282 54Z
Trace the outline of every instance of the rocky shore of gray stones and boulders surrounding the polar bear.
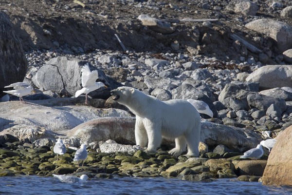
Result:
M25 97L27 104L13 101L18 98L12 96L11 101L2 98L0 102L0 176L258 181L269 152L265 149L259 160L239 156L261 140L277 139L285 129L291 132L290 1L84 0L85 6L60 0L43 0L41 5L37 1L34 6L21 2L23 9L18 1L0 4L0 18L5 19L0 22L9 29L0 35L8 32L20 48L9 50L10 59L0 56L0 67L5 67L0 73L0 97L13 80L30 83L38 93ZM148 23L143 21L145 14L151 18ZM194 19L203 21L187 21ZM0 42L1 48L12 44L10 39L5 41ZM15 58L17 53L26 59ZM5 66L10 61L25 65L14 70ZM91 92L89 105L84 104L84 96L73 98L81 89L80 67L86 63L108 86ZM22 75L5 79L16 70ZM134 116L110 98L110 90L123 85L161 100L206 102L214 118L201 115L201 156L170 156L167 150L173 143L169 140L164 140L157 154L133 148ZM57 137L70 148L86 142L90 152L83 167L73 163L70 148L62 160L56 160L52 147ZM105 143L108 139L127 146L128 152L101 151L105 144L116 144ZM277 153L286 156L286 151ZM271 167L277 164L273 163ZM292 170L289 163L281 166Z

